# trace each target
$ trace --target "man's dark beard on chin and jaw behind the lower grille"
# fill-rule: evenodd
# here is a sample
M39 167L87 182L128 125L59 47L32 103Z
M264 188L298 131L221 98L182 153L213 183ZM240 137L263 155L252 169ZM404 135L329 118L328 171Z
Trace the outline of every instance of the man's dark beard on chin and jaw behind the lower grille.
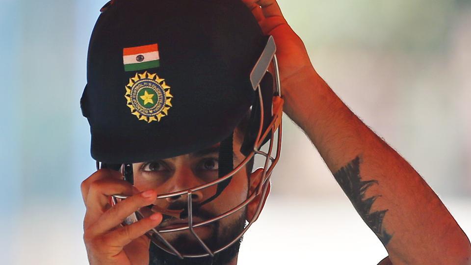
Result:
M208 240L205 240L205 243L208 245L217 245L218 242L224 242L222 245L219 245L218 248L221 248L223 245L229 243L245 228L245 217L246 212L243 211L242 216L240 216L232 224L228 225L228 227L223 231L219 230L219 221L214 222L213 233ZM220 238L223 235L224 237ZM214 257L184 258L183 260L179 259L173 254L167 253L166 251L160 249L156 244L151 242L149 247L149 265L226 265L229 264L229 262L231 262L235 256L237 256L241 242L242 237L227 249L214 254ZM178 245L175 244L173 246L178 251L180 251ZM211 247L209 248L211 249ZM211 249L211 251L215 251L215 249Z

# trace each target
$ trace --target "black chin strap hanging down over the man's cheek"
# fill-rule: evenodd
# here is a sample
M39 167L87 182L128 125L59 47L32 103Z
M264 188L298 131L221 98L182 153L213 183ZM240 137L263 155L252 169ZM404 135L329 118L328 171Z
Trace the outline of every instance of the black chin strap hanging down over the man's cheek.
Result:
M234 133L231 133L229 137L224 139L221 144L219 145L219 169L218 169L218 177L222 178L226 176L229 172L234 169L234 150L233 150L233 138ZM232 177L228 178L225 181L220 182L217 185L216 193L208 198L206 201L199 204L202 206L204 204L209 203L210 201L214 200L217 196L221 195L221 192L229 185L231 182Z

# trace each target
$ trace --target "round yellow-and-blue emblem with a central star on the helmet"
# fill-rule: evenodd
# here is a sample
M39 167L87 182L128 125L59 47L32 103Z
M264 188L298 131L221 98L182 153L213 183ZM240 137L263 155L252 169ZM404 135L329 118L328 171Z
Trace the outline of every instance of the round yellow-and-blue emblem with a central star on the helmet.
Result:
M125 97L132 115L148 123L167 116L173 98L164 79L147 71L129 79Z

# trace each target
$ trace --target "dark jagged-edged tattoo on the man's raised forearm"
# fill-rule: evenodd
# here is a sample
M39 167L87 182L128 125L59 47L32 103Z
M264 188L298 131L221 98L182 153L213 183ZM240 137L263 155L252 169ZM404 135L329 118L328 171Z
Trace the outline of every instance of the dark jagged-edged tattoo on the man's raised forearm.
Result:
M376 198L381 195L365 199L366 189L373 184L378 184L378 181L362 181L362 178L360 177L359 157L356 157L346 166L340 168L340 170L334 174L334 178L337 180L340 187L343 189L343 192L345 192L352 202L353 207L355 207L368 227L373 230L383 245L386 246L392 238L392 235L388 234L383 227L383 218L388 210L369 212L371 205L374 203Z

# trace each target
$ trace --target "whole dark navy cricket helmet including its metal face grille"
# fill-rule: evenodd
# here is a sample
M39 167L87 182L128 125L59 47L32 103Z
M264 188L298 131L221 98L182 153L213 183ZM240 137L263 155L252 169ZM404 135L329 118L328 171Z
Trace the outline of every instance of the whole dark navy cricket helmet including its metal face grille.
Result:
M97 167L101 163L121 170L133 183L132 163L176 157L220 142L217 180L157 196L188 196L182 213L188 224L180 230L191 231L205 252L185 255L161 236L174 231L157 227L146 234L180 258L213 256L242 237L262 202L253 220L226 246L209 249L193 228L264 195L279 159L283 100L274 39L263 35L240 0L112 0L101 11L90 38L87 85L80 99L90 124L91 156ZM233 132L249 109L240 150L246 158L234 165ZM266 142L268 151L263 152ZM192 223L191 192L217 186L203 204L208 203L255 155L265 159L257 190L236 208L203 224ZM113 202L125 198L117 194ZM134 217L143 214L138 211Z

